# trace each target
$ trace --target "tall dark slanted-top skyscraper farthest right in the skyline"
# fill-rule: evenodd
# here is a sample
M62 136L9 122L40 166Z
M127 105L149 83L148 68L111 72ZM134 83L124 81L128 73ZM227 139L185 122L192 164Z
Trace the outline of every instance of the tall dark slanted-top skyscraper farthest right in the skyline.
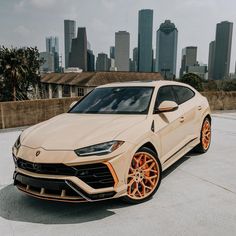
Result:
M223 21L216 26L215 56L213 79L221 80L229 77L233 23Z

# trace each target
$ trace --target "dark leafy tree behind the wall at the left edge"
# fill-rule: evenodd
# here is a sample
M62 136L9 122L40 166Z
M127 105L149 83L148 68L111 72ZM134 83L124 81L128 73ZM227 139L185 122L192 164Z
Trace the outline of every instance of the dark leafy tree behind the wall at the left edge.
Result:
M0 101L28 99L40 86L41 63L36 47L0 47Z

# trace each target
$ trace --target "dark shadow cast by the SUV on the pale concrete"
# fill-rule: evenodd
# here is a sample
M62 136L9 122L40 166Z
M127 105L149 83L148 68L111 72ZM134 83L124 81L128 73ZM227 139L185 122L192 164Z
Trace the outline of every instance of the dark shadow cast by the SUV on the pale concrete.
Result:
M191 158L187 154L163 172L166 178L183 162ZM100 202L64 203L40 200L21 193L12 184L0 189L0 217L20 222L40 224L78 224L110 217L114 210L133 207L119 199Z

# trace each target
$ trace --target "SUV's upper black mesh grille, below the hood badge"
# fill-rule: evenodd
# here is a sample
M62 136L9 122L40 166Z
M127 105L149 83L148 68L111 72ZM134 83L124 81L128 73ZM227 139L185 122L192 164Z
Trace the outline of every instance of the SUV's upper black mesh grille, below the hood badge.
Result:
M76 176L96 189L113 187L115 184L109 168L103 163L72 167L64 164L32 163L19 158L17 166L38 174Z

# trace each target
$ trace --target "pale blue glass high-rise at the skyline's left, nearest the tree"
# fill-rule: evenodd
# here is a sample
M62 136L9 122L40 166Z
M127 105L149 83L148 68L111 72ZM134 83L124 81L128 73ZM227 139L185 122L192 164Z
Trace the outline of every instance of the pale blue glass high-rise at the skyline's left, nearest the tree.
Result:
M58 37L46 38L46 52L53 54L54 71L59 72L59 39Z

